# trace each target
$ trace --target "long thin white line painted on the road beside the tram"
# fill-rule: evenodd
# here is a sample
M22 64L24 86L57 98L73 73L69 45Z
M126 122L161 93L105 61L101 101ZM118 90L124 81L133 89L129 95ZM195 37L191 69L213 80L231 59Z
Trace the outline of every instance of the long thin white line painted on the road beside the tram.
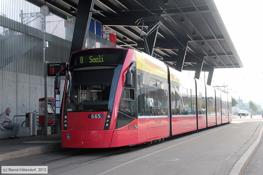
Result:
M236 124L233 124L233 125L236 125ZM228 126L225 126L225 127L229 127L229 126L232 126L232 125L228 125ZM117 169L117 168L120 168L120 167L122 167L122 166L124 166L124 165L127 165L127 164L129 164L129 163L131 163L131 162L134 162L134 161L136 161L136 160L140 160L140 159L143 159L143 158L148 157L148 156L150 156L150 155L153 155L153 154L159 153L159 152L161 152L161 151L164 151L164 150L173 148L174 146L177 146L177 145L180 145L180 144L182 144L182 143L191 141L191 140L193 140L193 139L197 139L197 138L199 138L199 137L205 136L205 135L210 134L210 133L212 133L212 132L216 132L216 131L218 131L218 130L220 130L220 129L223 129L223 128L225 128L225 127L216 129L216 130L214 130L214 131L208 132L208 133L203 134L203 135L200 135L200 136L196 136L196 137L194 137L194 138L192 138L192 139L188 139L188 140L186 140L186 141L182 141L182 142L177 143L177 144L174 144L174 145L172 145L172 146L168 146L168 147L166 147L166 148L163 148L163 149L161 149L161 150L155 151L155 152L153 152L153 153L150 153L150 154L147 154L147 155L138 157L138 158L136 158L136 159L130 160L130 161L128 161L128 162L125 162L125 163L122 163L122 164L120 164L120 165L117 165L116 167L113 167L113 168L111 168L111 169L108 169L108 170L106 170L106 171L103 171L102 173L97 174L97 175L106 174L106 173L108 173L108 172L110 172L110 171L113 171L113 170L115 170L115 169Z

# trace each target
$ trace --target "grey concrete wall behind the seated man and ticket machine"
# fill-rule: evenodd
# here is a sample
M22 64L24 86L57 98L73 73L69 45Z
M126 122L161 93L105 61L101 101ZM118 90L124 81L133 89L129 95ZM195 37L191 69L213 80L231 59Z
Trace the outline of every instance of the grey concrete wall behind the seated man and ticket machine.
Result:
M54 78L48 78L48 97L54 97ZM61 81L61 98L65 81ZM44 97L44 77L0 70L0 112L11 107L11 116L38 111L38 99ZM18 117L20 125L25 117Z

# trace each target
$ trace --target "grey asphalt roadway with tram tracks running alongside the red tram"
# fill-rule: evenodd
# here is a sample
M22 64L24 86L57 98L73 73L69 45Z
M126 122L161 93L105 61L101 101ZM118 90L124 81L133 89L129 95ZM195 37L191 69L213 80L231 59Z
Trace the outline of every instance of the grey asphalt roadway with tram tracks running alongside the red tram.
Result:
M43 165L48 166L48 174L226 175L257 138L261 120L237 119L150 146L72 149L1 162L1 165Z

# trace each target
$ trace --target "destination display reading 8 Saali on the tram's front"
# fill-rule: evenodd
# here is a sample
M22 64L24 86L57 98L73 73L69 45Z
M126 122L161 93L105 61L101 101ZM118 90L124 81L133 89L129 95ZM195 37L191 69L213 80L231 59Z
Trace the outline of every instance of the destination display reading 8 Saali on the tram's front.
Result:
M84 64L120 64L120 53L78 55L75 60L75 65Z

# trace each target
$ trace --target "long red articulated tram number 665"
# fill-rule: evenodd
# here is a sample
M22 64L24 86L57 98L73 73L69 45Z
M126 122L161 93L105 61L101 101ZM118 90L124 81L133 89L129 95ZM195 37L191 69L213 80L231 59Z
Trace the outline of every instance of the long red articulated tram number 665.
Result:
M61 145L136 145L231 122L231 97L132 49L72 53Z

